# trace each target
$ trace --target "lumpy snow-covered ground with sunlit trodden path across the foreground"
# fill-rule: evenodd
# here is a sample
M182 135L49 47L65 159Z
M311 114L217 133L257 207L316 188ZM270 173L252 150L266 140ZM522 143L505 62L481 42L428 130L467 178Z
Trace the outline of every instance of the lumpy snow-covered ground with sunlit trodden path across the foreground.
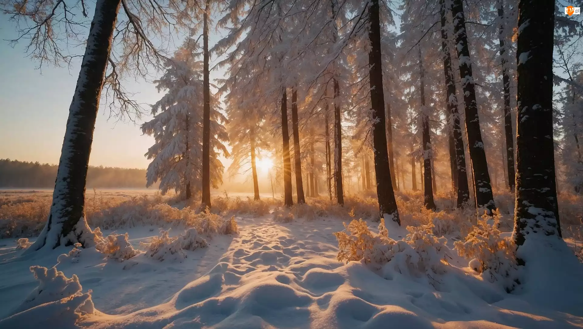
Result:
M92 290L96 311L81 316L75 325L80 327L583 327L583 265L570 262L574 256L567 261L571 273L557 273L558 280L534 285L526 282L524 291L507 294L473 273L468 260L454 251L447 272L427 284L427 277L404 271L381 276L361 262L338 262L333 233L344 229L338 219L236 219L238 234L217 235L208 240L208 248L186 251L181 262L159 262L144 253L117 262L93 248L82 250L76 263L68 258L57 263L71 247L20 256L22 250L15 248L13 239L0 240L0 319L14 313L38 286L30 266L56 264L65 277L78 276L83 292ZM157 235L154 227L118 233L125 231L139 249L139 242ZM403 228L389 227L389 237L404 234ZM447 246L451 248L452 241ZM549 265L562 266L560 260ZM547 291L556 294L543 302L540 294ZM75 327L72 317L55 316L66 313L62 307L47 305L5 319L0 328L36 328L50 318L51 328Z

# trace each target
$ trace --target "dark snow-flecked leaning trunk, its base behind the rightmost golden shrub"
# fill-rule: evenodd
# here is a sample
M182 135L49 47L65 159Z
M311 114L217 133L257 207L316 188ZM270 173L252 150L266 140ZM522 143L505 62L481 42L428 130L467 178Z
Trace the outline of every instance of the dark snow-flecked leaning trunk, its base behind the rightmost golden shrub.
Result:
M486 208L487 212L491 213L491 210L496 209L496 205L494 204L492 187L490 186L486 151L484 150L482 132L480 131L480 119L477 114L476 90L472 76L472 64L470 63L470 51L468 36L466 35L462 0L454 0L452 13L454 16L455 42L459 58L459 76L462 81L463 102L465 104L466 132L468 134L468 146L475 183L476 206L477 208Z

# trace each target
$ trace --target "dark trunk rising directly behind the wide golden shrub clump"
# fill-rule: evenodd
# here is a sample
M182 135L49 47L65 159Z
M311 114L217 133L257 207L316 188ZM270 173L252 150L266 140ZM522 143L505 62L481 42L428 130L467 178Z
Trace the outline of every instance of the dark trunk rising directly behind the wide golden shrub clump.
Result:
M385 125L385 96L382 88L381 22L378 0L371 0L368 14L370 20L368 39L371 44L371 49L368 53L368 76L370 80L370 103L374 121L374 169L377 178L378 212L381 218L387 215L401 225L395 201L395 191L393 191L393 184L391 183L387 133L385 133L385 127L387 126Z

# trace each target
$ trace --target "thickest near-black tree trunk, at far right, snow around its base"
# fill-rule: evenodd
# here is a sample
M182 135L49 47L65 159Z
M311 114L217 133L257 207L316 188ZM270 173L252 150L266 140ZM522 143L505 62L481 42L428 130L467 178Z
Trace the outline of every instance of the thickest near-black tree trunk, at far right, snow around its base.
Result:
M517 178L514 241L561 237L553 147L554 1L518 5ZM534 209L534 210L533 210Z

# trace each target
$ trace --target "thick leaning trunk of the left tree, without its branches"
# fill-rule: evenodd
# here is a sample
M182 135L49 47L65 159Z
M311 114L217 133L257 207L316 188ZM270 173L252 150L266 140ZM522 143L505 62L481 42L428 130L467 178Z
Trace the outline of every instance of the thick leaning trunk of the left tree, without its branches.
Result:
M75 94L69 106L51 209L43 231L27 252L37 251L45 245L47 248L56 248L61 244L69 246L79 242L87 247L94 243L93 239L87 237L91 229L85 219L85 184L93 130L120 2L97 0Z

